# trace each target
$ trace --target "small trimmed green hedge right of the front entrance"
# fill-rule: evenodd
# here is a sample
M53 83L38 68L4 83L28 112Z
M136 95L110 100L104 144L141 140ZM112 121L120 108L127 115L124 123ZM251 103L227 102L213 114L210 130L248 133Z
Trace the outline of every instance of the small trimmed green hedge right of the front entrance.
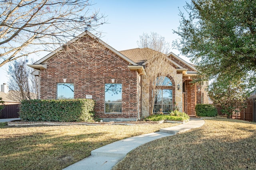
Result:
M196 115L199 117L215 117L217 116L217 109L211 104L197 104Z

